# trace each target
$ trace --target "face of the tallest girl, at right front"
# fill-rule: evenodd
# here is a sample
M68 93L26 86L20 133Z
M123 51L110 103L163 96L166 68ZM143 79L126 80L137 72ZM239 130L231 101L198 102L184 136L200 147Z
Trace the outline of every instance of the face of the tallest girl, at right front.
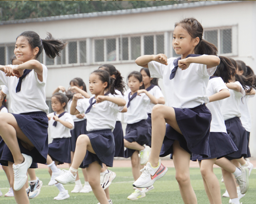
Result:
M173 33L173 48L177 55L185 58L189 54L194 54L194 49L199 43L199 38L191 38L189 33L181 26L177 25Z

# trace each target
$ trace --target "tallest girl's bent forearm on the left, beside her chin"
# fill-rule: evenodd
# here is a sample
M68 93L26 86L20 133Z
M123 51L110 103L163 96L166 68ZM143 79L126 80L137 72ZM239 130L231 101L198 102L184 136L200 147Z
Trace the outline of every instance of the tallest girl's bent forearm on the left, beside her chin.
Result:
M139 66L148 68L147 63L148 63L148 62L151 62L151 61L156 61L156 62L159 62L159 63L161 63L161 64L168 65L168 63L167 63L167 57L166 57L166 55L164 55L164 54L158 54L158 55L143 55L143 56L138 57L138 58L135 60L135 63L136 63L137 65L139 65Z

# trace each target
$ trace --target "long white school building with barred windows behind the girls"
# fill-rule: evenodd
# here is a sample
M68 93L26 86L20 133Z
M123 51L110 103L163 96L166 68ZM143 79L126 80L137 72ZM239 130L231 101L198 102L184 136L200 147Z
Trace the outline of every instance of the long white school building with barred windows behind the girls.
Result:
M54 9L54 8L52 8ZM57 8L56 8L57 9ZM64 15L0 22L0 64L10 64L16 37L35 31L44 39L66 41L67 47L55 59L41 54L39 61L48 67L47 103L53 90L69 87L80 77L89 85L90 73L102 64L113 64L125 78L140 70L135 59L141 55L164 53L176 57L172 48L175 22L195 17L204 28L204 38L214 43L219 55L242 60L256 72L256 2L200 1L151 8ZM1 83L1 82L0 82ZM160 87L162 81L160 80ZM164 90L162 89L164 92ZM165 90L164 94L168 90ZM250 150L256 157L256 97L249 101L252 119Z

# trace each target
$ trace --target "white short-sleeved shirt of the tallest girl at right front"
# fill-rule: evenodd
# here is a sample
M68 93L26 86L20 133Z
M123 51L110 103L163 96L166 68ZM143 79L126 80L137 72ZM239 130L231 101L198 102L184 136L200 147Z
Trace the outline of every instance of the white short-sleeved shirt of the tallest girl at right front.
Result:
M191 63L185 70L178 67L174 79L170 80L175 60L176 58L169 58L167 66L156 61L147 64L152 78L163 79L167 106L195 108L208 103L206 87L216 67L207 69L204 64Z

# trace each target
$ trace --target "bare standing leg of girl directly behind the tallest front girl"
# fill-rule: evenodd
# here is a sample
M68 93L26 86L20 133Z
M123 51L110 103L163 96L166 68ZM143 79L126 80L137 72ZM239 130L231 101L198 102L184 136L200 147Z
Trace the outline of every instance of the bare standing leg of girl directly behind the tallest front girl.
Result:
M214 200L214 204L221 204L221 189L217 176L214 173L215 159L208 159L201 161L200 171L203 179L206 181L208 190L210 192L210 199ZM210 201L209 199L209 201Z

